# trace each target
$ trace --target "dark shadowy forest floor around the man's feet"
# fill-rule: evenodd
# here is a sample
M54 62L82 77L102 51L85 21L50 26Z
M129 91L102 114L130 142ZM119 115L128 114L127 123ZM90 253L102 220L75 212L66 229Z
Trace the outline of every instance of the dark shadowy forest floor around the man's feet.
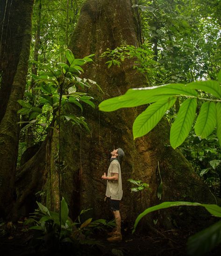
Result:
M24 228L22 223L6 224L0 228L1 256L185 256L186 241L189 236L181 230L158 231L146 234L123 232L121 242L108 242L107 231L96 233L98 245L71 245L62 247L53 241L36 239L35 230ZM221 246L207 256L221 255Z

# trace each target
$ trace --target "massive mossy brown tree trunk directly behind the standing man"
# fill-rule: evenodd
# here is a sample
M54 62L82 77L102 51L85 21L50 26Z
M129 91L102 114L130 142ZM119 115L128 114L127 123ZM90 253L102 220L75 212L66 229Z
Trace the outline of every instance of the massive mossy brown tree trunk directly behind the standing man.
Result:
M120 68L108 69L105 64L107 60L100 58L100 54L107 48L114 49L122 44L139 45L135 22L130 0L86 0L82 7L77 27L71 37L70 49L77 57L95 53L94 63L86 67L84 77L97 81L102 87L104 95L96 89L90 91L97 103L146 83L143 75L133 69L132 60L125 61ZM121 213L124 221L134 220L140 211L161 201L215 203L209 189L194 174L190 164L178 150L173 150L169 145L170 127L165 119L147 136L133 140L132 124L139 111L140 108L133 108L103 113L84 106L83 115L89 123L91 135L76 127L64 125L61 131L61 154L65 168L61 174L61 190L69 203L72 217L80 209L93 208L91 212L88 211L91 217L107 218L108 211L103 201L106 184L101 180L101 175L107 172L110 152L117 147L125 151L121 165ZM56 144L56 140L55 131L52 142ZM46 180L53 175L57 177L52 161L56 154L56 147L51 146L50 156L46 157L50 158L50 175L47 168L45 170L48 174L43 175ZM30 165L35 167L32 163ZM163 181L161 201L157 197L157 188L161 182L159 174ZM150 184L150 189L143 192L141 198L131 194L129 190L130 183L127 180L131 177ZM49 181L53 181L57 188L56 178ZM45 184L49 184L49 181L45 181ZM45 188L43 190L48 194L49 189ZM56 208L57 196L51 200L53 202L50 201L50 205ZM47 202L49 205L48 200ZM199 211L198 214L200 213ZM188 220L192 220L192 211L188 210L187 214L191 216ZM172 216L171 211L165 211L164 215L157 218L160 220L162 217L164 225L169 227L173 218L178 223L177 216Z

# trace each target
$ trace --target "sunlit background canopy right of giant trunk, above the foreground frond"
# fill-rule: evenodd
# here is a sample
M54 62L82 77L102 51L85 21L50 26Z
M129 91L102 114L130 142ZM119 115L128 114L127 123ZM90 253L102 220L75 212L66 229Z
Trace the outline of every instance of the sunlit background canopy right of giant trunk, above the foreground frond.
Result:
M217 0L203 4L200 0L138 0L135 3L143 40L150 38L161 70L156 84L216 78L221 68Z

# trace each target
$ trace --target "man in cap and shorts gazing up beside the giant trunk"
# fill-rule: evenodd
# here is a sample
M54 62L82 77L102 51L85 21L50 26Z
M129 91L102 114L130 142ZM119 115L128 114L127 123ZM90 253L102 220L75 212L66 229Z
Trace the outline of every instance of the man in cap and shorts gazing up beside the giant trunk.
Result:
M110 166L106 173L102 175L102 180L107 180L106 196L110 205L110 210L114 214L116 222L116 231L111 233L108 241L121 241L121 215L120 215L120 200L123 195L121 182L121 160L124 156L124 151L121 148L115 149L111 152Z

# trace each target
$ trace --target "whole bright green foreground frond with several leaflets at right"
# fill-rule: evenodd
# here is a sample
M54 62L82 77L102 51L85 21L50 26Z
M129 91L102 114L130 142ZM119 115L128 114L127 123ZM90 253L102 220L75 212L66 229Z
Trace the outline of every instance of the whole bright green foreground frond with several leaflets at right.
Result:
M214 98L201 98L203 90ZM177 118L171 126L170 143L173 148L181 145L188 136L195 119L197 99L208 101L201 106L200 114L195 124L195 133L202 138L209 136L217 122L217 137L220 139L221 86L216 81L202 81L187 84L165 84L148 88L129 89L124 95L104 100L99 108L102 111L114 111L122 107L133 107L152 103L141 113L133 125L134 138L140 137L153 129L164 113L175 103L176 98L187 98L181 105ZM216 99L217 97L218 99ZM214 101L214 102L212 102ZM221 140L219 140L221 145Z

